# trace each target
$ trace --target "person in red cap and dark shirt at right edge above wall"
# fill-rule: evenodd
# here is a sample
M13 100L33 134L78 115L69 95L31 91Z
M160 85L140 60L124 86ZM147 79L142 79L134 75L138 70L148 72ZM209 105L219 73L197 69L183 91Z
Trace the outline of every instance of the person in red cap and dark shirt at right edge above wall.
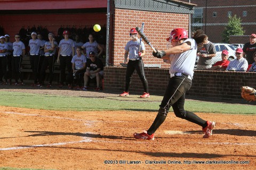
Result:
M245 43L243 47L243 57L246 58L248 64L254 63L253 53L256 52L256 35L253 33L250 36L250 42Z

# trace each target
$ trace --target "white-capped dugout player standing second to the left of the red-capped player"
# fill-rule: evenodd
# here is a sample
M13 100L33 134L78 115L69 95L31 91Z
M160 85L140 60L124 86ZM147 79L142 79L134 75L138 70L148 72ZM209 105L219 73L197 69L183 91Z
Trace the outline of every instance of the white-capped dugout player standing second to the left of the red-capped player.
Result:
M31 84L31 86L40 86L38 83L39 81L39 61L40 61L40 55L39 50L41 47L44 46L43 41L37 39L37 33L32 32L31 33L32 39L29 40L28 46L30 47L29 50L29 60L31 69L33 70L34 75L34 83Z

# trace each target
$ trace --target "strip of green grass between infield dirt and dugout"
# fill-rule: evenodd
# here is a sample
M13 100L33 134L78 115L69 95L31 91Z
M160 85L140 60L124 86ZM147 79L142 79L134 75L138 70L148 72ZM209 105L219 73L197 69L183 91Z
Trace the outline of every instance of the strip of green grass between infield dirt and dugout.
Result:
M157 112L162 96L138 99L121 97L71 97L23 92L0 91L0 105L54 111L147 111ZM185 109L191 112L255 114L256 106L187 100Z

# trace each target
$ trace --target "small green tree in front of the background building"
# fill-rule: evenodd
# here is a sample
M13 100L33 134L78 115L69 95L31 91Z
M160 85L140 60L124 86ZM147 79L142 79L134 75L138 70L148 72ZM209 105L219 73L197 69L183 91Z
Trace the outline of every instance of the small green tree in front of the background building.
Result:
M233 17L229 16L228 18L228 24L222 32L223 43L229 43L229 36L242 36L245 32L241 26L241 18L237 18L236 15Z

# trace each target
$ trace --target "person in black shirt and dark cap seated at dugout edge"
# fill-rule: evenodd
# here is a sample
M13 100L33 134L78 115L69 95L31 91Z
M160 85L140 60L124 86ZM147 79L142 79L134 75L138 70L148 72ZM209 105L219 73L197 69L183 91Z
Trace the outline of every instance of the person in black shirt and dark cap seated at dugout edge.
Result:
M94 89L96 91L100 90L100 80L103 77L103 63L102 61L95 56L94 52L89 53L90 59L87 61L86 72L84 73L84 88L83 90L88 90L88 81L89 78L96 78L97 87Z

